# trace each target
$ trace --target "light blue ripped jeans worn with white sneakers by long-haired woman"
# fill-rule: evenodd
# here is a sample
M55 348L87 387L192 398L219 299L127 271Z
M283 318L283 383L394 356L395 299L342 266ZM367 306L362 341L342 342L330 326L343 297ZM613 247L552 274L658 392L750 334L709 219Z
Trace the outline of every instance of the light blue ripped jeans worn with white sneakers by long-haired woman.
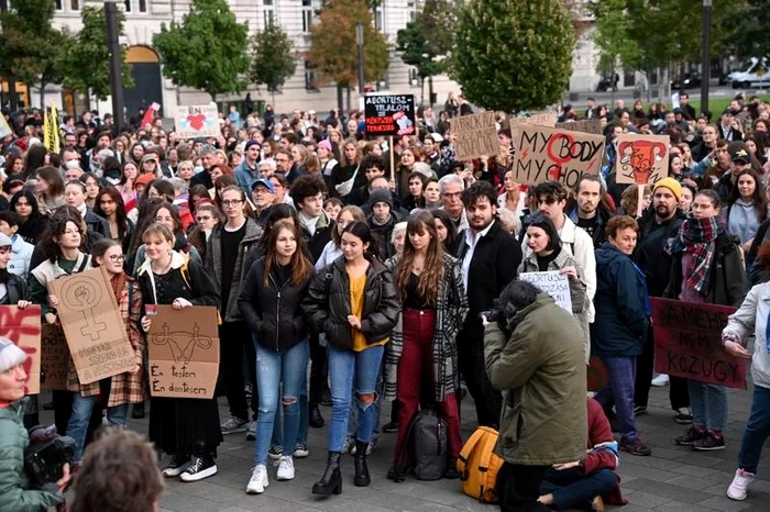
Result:
M294 453L299 428L299 390L306 380L310 349L307 340L286 350L275 352L256 345L256 381L260 409L256 416L255 461L266 464L273 425L282 396L284 411L284 454ZM284 387L280 392L280 380Z

